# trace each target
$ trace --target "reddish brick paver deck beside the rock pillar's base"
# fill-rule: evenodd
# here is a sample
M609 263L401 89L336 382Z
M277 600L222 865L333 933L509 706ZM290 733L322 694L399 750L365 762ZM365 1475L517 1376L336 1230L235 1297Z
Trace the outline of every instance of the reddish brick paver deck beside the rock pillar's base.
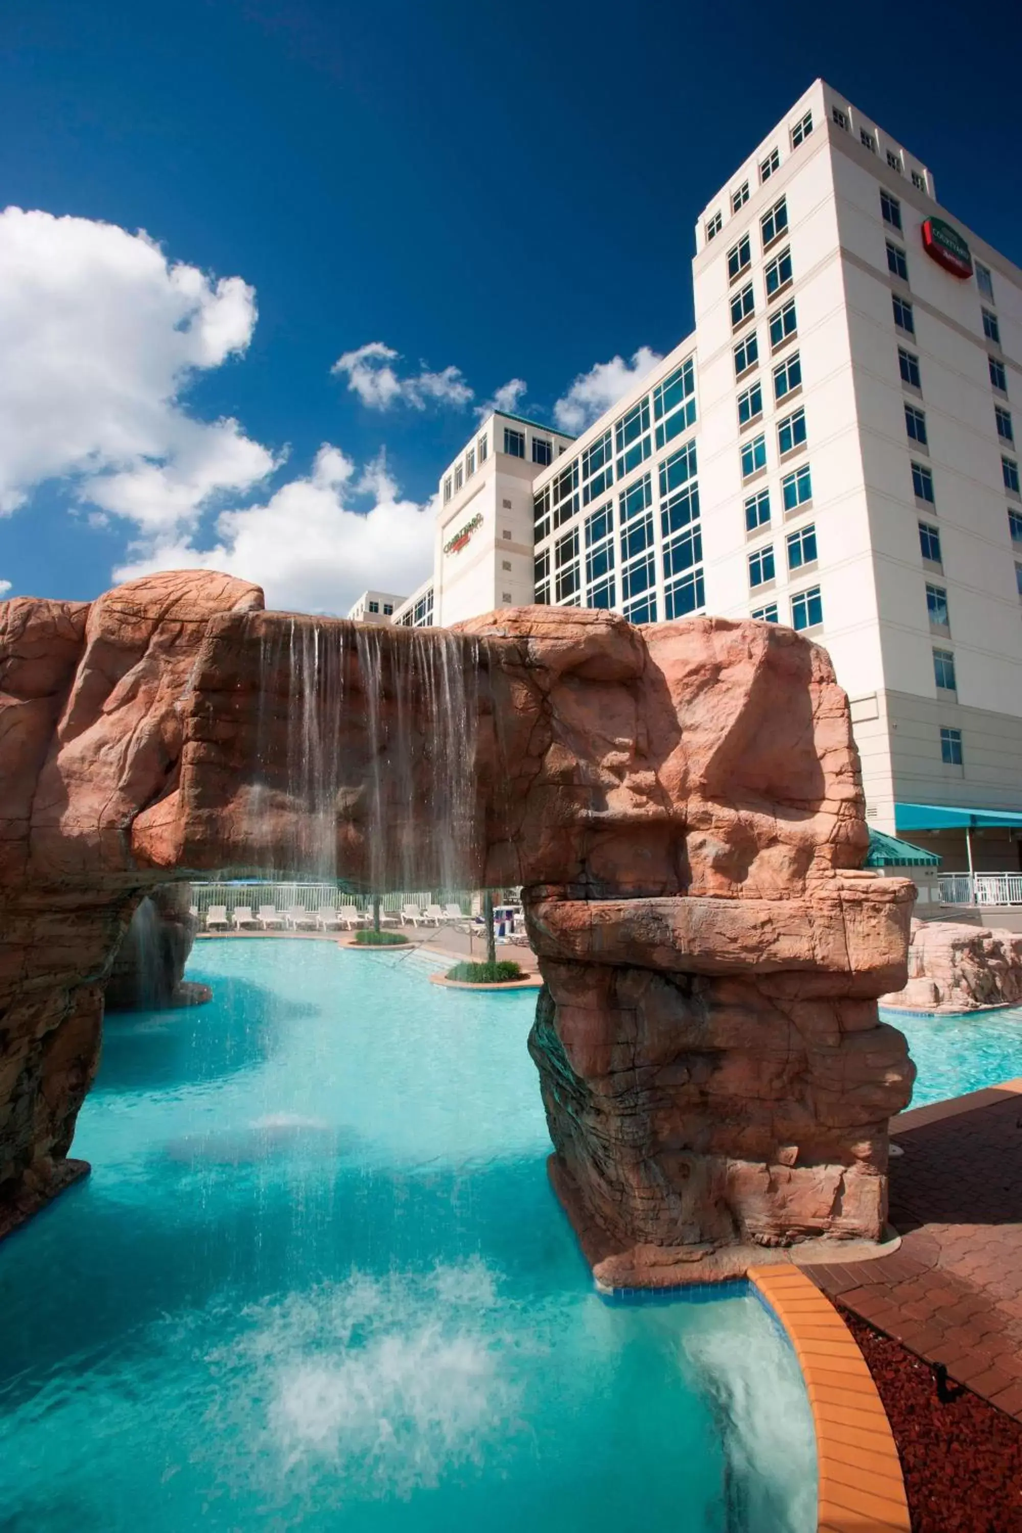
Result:
M1022 1082L902 1114L901 1249L806 1268L832 1298L1022 1421Z

